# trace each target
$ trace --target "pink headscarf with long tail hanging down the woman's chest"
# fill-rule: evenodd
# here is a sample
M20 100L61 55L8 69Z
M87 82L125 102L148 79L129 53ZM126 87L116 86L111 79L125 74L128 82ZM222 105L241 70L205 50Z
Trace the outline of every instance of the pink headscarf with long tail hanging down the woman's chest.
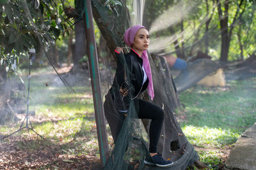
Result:
M124 41L128 46L132 46L135 35L139 31L139 29L141 29L141 28L145 28L145 27L142 26L142 25L135 25L135 26L130 27L129 29L127 29L125 31ZM151 100L153 100L155 94L154 94L152 73L151 73L151 68L150 68L150 64L149 64L149 61L148 61L147 50L144 50L140 57L141 57L141 59L143 59L143 66L144 66L145 72L146 72L146 74L148 76L148 80L149 80L149 82L148 82L148 94L151 97Z

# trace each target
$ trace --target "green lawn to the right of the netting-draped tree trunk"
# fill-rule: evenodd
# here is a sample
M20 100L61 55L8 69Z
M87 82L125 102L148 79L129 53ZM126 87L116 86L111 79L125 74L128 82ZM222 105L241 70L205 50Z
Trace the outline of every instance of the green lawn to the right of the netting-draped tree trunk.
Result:
M256 78L250 78L230 81L225 88L196 85L180 93L185 105L177 114L180 127L211 169L218 169L221 152L256 122L255 87Z

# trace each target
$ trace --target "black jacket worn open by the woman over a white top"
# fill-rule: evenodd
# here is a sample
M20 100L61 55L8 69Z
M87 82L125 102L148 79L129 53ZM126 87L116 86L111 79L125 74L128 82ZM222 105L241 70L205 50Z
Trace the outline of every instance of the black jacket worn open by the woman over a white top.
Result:
M117 110L128 110L131 100L136 99L148 87L148 79L143 83L143 59L131 49L131 52L116 53L117 68L110 92ZM127 64L125 67L124 61ZM120 88L128 90L127 96L120 94Z

